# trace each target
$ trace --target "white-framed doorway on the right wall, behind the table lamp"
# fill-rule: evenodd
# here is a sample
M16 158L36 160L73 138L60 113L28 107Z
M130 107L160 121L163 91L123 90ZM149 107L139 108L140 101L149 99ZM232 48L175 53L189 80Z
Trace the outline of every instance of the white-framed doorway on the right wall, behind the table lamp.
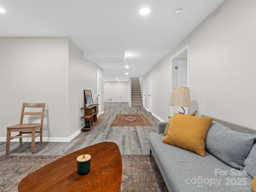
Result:
M189 87L189 45L180 50L171 58L171 90L173 87ZM184 107L185 114L188 114L188 107ZM183 112L181 107L171 106L171 116Z

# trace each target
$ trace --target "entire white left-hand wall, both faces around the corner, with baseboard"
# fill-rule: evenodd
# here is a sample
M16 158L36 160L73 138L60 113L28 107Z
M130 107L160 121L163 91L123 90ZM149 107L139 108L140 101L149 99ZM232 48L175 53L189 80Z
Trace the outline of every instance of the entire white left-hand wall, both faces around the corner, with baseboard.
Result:
M98 66L68 38L0 40L0 140L7 126L19 123L23 102L46 103L44 140L70 140L83 124L83 90L96 95Z

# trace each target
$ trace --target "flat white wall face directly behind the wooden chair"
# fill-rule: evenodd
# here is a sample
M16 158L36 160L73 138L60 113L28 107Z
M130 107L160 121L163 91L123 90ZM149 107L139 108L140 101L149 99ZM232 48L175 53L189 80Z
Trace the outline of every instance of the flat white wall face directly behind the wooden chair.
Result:
M46 103L44 137L68 136L67 77L68 38L1 37L1 137L23 102Z

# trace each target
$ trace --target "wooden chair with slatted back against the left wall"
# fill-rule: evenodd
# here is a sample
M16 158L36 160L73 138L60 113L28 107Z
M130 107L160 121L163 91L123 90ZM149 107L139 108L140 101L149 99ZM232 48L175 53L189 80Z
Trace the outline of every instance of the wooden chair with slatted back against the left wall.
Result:
M6 155L10 152L10 140L14 138L20 138L20 146L22 146L22 138L31 137L31 153L35 151L35 139L40 136L40 144L42 144L43 140L43 122L44 122L44 106L45 103L23 103L21 116L20 116L20 124L13 125L7 127L7 135L6 135ZM42 108L41 112L26 112L25 108ZM41 116L41 123L23 123L24 115L29 116ZM40 130L38 130L40 129ZM38 131L36 131L38 130ZM11 132L20 132L20 134L16 136L11 136ZM26 135L22 135L26 134ZM28 135L27 135L28 134ZM36 135L37 134L37 135Z

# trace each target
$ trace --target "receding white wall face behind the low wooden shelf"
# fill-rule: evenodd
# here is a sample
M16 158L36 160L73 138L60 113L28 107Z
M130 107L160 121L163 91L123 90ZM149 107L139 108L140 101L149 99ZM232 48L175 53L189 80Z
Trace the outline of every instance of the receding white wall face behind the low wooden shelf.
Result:
M97 81L96 74L97 68L101 70L103 79L102 69L96 65L87 62L83 58L83 52L69 40L69 135L84 126L84 110L80 109L84 107L84 90L91 90L93 101L96 100L97 96ZM103 82L101 82L103 84ZM103 86L102 86L103 95ZM103 99L102 99L102 111L104 110ZM101 112L100 112L101 113Z

